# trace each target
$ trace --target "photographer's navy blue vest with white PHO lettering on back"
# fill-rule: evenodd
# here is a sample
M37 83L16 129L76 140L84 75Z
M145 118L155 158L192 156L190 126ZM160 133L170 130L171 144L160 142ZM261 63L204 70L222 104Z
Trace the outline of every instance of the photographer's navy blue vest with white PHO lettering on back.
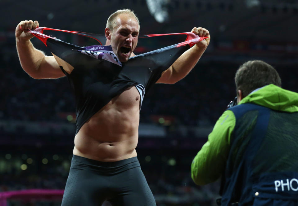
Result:
M298 205L298 112L251 103L229 110L236 125L221 205Z

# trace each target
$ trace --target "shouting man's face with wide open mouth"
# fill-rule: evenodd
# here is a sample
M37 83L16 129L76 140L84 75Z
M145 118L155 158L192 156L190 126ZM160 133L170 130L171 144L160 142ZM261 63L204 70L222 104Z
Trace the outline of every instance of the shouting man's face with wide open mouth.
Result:
M111 46L120 62L126 62L138 44L139 25L128 14L116 17L116 26L110 33Z

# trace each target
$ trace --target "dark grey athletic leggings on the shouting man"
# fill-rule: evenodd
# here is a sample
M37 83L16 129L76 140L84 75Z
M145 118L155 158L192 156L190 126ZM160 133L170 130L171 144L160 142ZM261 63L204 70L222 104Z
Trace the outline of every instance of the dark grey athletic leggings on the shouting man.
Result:
M61 206L156 206L137 157L100 162L73 155Z

